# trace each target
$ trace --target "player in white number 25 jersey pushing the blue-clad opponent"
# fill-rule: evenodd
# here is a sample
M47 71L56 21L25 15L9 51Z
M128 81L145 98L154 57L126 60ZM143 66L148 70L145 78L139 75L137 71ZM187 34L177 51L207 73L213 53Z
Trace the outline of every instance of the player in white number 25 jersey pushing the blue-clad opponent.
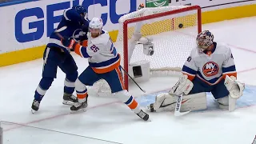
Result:
M88 58L89 66L79 75L75 82L78 103L70 110L82 110L87 107L88 94L86 86L93 86L94 82L105 79L108 82L111 92L124 102L140 118L147 121L149 114L146 114L138 105L134 97L125 89L122 72L120 70L120 55L111 41L110 35L102 30L103 22L101 18L93 18L89 23L87 37L88 42L83 42L82 46L73 39L65 39L63 43L74 49L76 54L82 58Z

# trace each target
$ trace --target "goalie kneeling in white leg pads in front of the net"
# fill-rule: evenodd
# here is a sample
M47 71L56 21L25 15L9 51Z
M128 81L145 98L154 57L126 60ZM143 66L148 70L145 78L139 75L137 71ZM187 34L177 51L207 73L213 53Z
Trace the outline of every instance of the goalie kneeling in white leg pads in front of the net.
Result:
M209 30L196 38L197 48L191 50L182 67L182 76L169 93L159 94L148 106L153 111L174 110L177 97L183 94L181 111L205 110L206 92L211 92L221 109L234 110L242 96L244 84L237 81L237 72L230 47L214 42Z

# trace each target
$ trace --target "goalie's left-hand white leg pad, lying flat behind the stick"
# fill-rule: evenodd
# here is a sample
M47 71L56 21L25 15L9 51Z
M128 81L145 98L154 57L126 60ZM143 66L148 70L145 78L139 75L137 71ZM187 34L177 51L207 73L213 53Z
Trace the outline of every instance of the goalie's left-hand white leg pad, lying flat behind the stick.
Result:
M157 112L174 110L176 101L177 97L174 95L159 94L154 102L154 110ZM206 93L183 95L181 111L206 110L206 108Z

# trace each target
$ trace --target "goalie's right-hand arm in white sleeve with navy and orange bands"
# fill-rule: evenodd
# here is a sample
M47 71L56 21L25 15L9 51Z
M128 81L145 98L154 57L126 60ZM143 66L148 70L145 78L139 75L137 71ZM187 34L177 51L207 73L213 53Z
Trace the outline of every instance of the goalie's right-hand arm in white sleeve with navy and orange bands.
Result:
M228 52L226 53L225 56L226 59L222 65L223 78L226 78L226 75L228 75L229 77L237 78L237 71L234 65L234 57L232 55L230 48L228 49Z

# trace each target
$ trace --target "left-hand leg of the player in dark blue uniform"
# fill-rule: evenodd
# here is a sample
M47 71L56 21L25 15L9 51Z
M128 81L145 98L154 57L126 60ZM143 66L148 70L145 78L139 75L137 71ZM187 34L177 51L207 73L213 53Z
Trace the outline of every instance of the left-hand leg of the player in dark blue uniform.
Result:
M43 67L42 67L42 79L40 80L37 89L34 94L34 102L32 103L32 112L38 111L40 102L46 91L50 88L51 83L56 78L58 63L62 59L59 57L58 52L46 47L43 54Z

